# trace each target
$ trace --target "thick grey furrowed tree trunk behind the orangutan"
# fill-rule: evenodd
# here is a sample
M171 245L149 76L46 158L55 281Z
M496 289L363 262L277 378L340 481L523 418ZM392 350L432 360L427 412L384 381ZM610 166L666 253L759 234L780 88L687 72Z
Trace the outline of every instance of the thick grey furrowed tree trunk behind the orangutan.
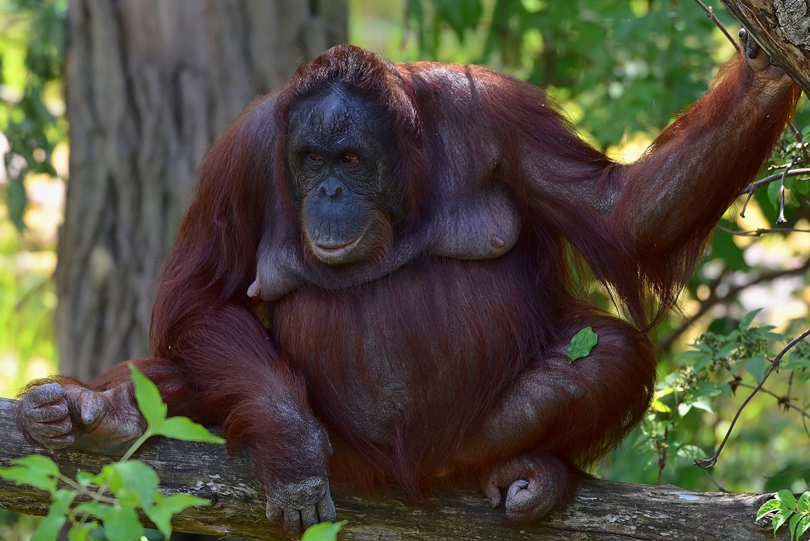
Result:
M346 0L71 0L62 371L148 354L152 290L208 144L303 58L347 41Z

